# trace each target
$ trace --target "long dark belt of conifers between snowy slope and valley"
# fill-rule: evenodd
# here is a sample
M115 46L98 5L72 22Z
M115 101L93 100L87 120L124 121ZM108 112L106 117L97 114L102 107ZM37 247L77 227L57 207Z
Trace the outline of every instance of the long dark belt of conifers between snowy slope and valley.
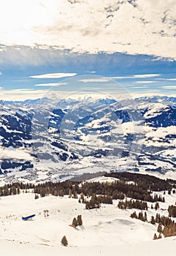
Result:
M161 188L168 188L169 191L172 191L173 186L175 186L175 184L171 186L169 181L163 181L156 177L145 176L139 173L109 173L107 176L117 176L121 178L121 180L112 183L84 182L81 186L79 186L79 182L77 181L48 181L43 184L23 184L16 182L0 187L0 196L15 195L18 194L21 189L23 189L23 192L28 192L28 189L32 189L32 192L36 195L40 195L40 197L47 195L63 197L64 195L69 195L69 197L77 198L77 195L83 193L83 195L88 195L89 197L93 194L110 196L112 200L123 200L125 197L131 197L136 200L149 202L164 202L164 197L161 195L152 195L152 189L158 191ZM134 184L129 184L127 182L128 180L134 180Z

